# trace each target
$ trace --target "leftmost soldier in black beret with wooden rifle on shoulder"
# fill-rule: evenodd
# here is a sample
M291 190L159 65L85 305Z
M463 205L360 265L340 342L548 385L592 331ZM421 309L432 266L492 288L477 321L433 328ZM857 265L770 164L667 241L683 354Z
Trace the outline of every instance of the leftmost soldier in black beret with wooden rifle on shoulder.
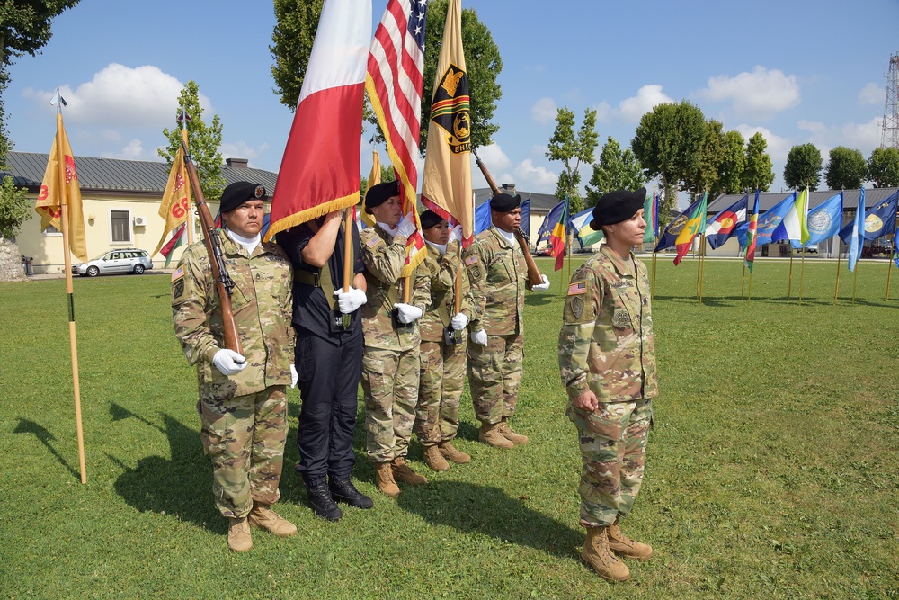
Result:
M219 230L234 320L243 355L223 347L216 282L203 243L184 250L172 274L175 336L197 365L200 438L212 459L216 505L228 519L228 546L253 547L250 525L286 537L297 528L271 510L287 435L290 383L291 268L283 251L260 241L265 188L237 182L221 198Z

